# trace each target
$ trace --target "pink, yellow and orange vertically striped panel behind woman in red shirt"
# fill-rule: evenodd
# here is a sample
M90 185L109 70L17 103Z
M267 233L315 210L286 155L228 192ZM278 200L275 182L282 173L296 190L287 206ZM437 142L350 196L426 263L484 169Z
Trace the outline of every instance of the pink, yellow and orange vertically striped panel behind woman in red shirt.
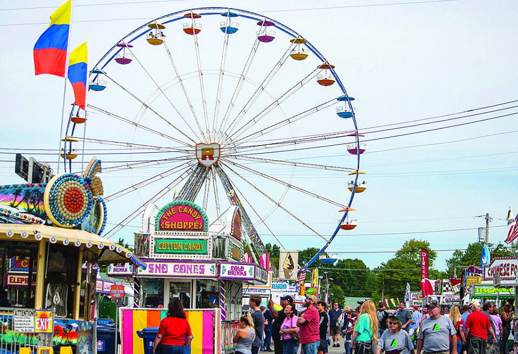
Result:
M152 345L160 321L166 316L165 309L122 309L121 341L122 352L144 354L144 346ZM193 341L191 353L217 354L220 351L214 348L214 311L185 311L191 326ZM152 329L143 331L144 329Z

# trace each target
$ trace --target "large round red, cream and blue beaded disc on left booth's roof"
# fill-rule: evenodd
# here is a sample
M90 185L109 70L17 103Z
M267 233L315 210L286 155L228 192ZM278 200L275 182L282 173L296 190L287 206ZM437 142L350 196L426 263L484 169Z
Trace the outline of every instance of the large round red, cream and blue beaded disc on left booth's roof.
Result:
M81 176L54 176L45 189L45 210L54 225L73 227L90 214L92 198L90 185Z

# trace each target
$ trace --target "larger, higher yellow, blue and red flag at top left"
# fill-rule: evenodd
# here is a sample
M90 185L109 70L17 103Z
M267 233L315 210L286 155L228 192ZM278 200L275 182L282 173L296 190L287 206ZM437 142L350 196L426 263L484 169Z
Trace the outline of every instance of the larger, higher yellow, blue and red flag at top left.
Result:
M50 26L34 45L36 75L50 74L65 77L68 34L70 31L71 0L50 15Z

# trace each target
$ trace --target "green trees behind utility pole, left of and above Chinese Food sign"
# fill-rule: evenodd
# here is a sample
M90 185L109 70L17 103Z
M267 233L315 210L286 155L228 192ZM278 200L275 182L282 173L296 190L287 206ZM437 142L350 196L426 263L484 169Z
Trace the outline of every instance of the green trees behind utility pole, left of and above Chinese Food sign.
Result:
M473 242L466 247L465 250L457 249L452 257L446 261L447 275L453 276L455 265L480 265L480 256L482 254L483 243ZM510 257L515 256L518 250L518 245L515 243L511 246L505 246L501 242L497 245L490 243L491 258L494 257Z

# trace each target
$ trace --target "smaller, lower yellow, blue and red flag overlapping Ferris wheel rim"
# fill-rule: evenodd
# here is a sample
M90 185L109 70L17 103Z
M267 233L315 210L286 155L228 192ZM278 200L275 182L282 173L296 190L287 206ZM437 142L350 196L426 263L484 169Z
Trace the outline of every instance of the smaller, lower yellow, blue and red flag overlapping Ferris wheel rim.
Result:
M76 106L84 109L87 100L87 42L70 52L68 59L68 80L74 89Z

